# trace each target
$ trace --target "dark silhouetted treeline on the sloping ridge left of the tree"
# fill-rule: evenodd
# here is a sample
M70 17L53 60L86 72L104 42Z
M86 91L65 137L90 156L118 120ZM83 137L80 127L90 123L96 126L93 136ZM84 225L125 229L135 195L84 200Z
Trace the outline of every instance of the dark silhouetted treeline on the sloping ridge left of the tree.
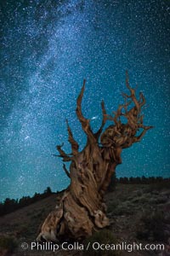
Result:
M33 195L32 197L23 196L22 198L20 198L20 200L6 198L4 202L0 203L0 216L3 216L4 214L7 214L9 212L14 212L22 207L27 207L32 203L39 201L43 198L46 198L52 194L54 193L48 187L47 189L44 190L42 194L35 193L35 195Z

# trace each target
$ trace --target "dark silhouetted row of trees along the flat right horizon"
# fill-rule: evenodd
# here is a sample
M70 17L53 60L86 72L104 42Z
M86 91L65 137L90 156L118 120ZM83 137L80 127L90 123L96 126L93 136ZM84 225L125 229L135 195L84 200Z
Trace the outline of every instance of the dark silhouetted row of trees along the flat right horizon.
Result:
M170 184L170 177L116 177L116 183L123 184L152 184L161 182Z

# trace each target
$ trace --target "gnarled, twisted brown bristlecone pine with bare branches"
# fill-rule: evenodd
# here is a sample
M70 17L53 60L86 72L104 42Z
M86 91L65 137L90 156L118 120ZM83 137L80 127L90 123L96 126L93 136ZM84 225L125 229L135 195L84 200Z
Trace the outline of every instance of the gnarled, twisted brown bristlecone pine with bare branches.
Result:
M91 236L94 230L109 225L109 219L105 215L104 195L116 166L122 163L122 149L138 143L146 131L152 128L143 124L144 115L141 112L145 104L144 95L140 92L137 99L126 73L129 95L122 93L125 102L113 116L106 113L105 104L101 102L103 120L99 131L94 133L90 120L82 115L85 82L84 80L81 93L77 97L76 113L87 136L87 144L81 152L78 151L79 145L66 121L71 154L65 153L63 145L57 146L57 149L64 162L71 161L70 172L63 165L71 183L65 190L59 206L48 214L42 224L37 241L59 241L65 237L78 241ZM126 122L122 123L122 117ZM102 133L107 120L113 121L113 125Z

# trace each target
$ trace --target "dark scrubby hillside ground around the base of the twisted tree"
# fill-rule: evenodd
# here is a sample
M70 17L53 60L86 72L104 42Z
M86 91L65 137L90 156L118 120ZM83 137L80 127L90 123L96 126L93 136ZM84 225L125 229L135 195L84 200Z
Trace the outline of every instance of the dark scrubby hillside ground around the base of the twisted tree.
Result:
M108 217L111 226L84 241L84 250L31 250L31 242L35 241L38 230L48 212L54 209L59 201L59 195L50 195L28 207L9 213L0 218L0 256L34 256L34 255L129 255L127 250L113 251L94 250L92 245L99 244L128 244L142 243L163 244L164 251L134 250L130 255L170 255L170 184L117 184L116 189L105 195L108 206ZM27 248L28 246L28 248ZM53 246L53 245L52 245ZM72 246L71 246L72 247ZM79 244L79 247L81 245Z

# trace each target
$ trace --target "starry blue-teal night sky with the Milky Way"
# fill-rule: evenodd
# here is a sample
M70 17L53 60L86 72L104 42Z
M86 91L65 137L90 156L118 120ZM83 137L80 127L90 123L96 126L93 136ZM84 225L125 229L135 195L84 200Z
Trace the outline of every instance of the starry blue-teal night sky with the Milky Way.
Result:
M69 180L55 146L67 142L83 79L84 115L95 130L100 102L122 103L125 71L148 104L141 143L124 149L117 177L170 176L170 1L1 0L0 201L65 189Z

